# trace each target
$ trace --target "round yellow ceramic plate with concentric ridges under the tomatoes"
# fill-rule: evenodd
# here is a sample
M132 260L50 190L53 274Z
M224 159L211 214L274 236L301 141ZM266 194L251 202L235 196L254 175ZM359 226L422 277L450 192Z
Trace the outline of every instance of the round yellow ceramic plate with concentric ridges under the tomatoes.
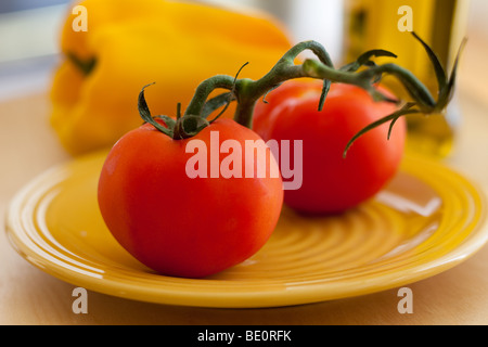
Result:
M202 280L164 277L113 239L98 209L105 153L44 172L8 210L16 250L77 286L130 299L200 307L277 307L369 294L465 260L487 241L485 201L462 176L407 157L375 200L343 216L305 218L284 208L255 256Z

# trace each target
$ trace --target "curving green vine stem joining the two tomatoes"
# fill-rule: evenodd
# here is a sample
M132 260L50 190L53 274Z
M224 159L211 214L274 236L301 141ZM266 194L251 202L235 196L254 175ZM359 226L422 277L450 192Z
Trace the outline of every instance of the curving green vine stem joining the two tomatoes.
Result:
M239 79L239 73L235 77L217 75L204 80L196 88L193 99L188 105L184 115L179 116L176 121L168 119L168 123L171 124L172 128L168 127L169 129L163 132L171 136L174 139L192 137L222 114L221 112L214 120L208 121L206 118L214 111L222 106L226 106L227 108L229 103L232 101L236 101L237 103L234 120L245 127L252 128L253 113L256 102L260 98L266 98L268 92L280 87L280 85L284 81L296 78L308 77L322 79L324 81L322 97L318 105L319 110L322 110L323 107L332 82L355 85L367 90L375 101L388 101L400 104L399 100L388 99L374 87L383 75L388 74L394 76L408 91L412 98L412 101L407 102L396 113L388 115L361 130L348 143L344 152L344 154L346 154L347 150L357 138L374 127L390 121L391 131L393 125L401 116L413 113L423 113L428 115L442 111L448 105L454 89L459 54L451 76L448 78L445 68L441 66L433 50L414 33L412 33L412 35L422 43L433 64L439 85L437 100L433 98L428 89L408 69L393 63L377 65L371 60L372 57L377 56L396 57L396 55L391 52L385 50L372 50L359 56L356 62L341 68L335 68L323 46L316 41L305 41L290 49L278 61L273 68L258 80L252 80L248 78ZM463 46L464 43L465 42L463 41ZM306 50L311 51L318 60L307 59L303 64L295 64L298 55ZM361 67L363 68L361 69ZM226 89L228 92L208 100L210 93L217 89ZM151 113L149 112L147 105L145 104L143 98L143 92L144 89L141 91L139 98L141 116L144 115L144 120L152 124L154 123L155 127L162 131L160 125L155 121L153 117L151 117ZM163 117L168 118L166 116ZM175 129L178 129L178 131L175 131Z

